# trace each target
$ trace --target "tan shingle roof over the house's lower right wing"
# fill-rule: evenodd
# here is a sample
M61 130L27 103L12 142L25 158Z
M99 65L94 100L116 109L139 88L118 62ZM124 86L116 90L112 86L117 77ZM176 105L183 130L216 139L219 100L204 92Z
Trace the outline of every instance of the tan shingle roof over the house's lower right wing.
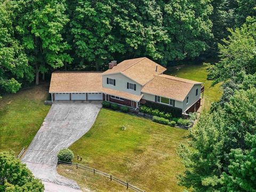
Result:
M170 75L158 75L148 82L141 92L183 101L194 85L201 84L203 83Z

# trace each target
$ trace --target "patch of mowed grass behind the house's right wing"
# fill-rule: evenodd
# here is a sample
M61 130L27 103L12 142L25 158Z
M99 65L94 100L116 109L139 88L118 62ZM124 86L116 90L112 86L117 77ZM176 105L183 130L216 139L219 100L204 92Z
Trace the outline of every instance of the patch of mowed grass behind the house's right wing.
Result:
M177 77L204 83L204 108L206 110L210 109L213 101L218 101L221 97L222 91L220 84L211 86L212 81L207 80L206 66L204 66L203 63L171 67L165 74L177 75Z

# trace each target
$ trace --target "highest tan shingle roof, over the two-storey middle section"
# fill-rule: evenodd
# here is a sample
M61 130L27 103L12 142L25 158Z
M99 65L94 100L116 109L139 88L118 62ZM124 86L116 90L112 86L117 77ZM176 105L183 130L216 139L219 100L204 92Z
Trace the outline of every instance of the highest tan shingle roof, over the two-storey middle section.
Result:
M157 71L156 71L157 66ZM121 63L114 66L112 69L108 69L102 75L111 75L121 73L126 77L129 77L133 81L145 85L155 75L162 74L166 68L157 64L156 62L143 57L137 59L124 60Z

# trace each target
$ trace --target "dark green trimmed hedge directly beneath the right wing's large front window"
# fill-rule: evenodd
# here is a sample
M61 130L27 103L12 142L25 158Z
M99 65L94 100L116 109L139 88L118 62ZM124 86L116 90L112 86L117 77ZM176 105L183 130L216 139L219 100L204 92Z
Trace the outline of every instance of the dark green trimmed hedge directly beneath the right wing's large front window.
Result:
M177 107L171 107L167 105L161 105L159 103L147 101L144 104L146 107L152 109L158 109L159 111L164 111L165 113L171 113L173 117L181 117L182 116L182 109Z

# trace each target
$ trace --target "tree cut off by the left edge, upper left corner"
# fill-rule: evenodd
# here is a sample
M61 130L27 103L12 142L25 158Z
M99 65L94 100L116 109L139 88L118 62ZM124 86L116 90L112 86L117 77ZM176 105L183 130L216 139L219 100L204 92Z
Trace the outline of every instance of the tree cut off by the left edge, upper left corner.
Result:
M20 89L22 79L33 81L33 69L28 65L26 53L14 36L10 2L0 2L0 91L15 93Z

